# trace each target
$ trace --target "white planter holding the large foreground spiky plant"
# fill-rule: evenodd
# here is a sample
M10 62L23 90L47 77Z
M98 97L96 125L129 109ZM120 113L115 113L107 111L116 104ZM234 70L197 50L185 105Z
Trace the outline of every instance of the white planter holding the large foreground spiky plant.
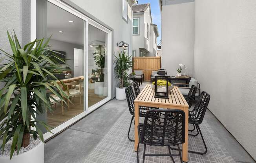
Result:
M44 163L44 143L40 142L35 148L11 159L10 156L0 156L0 163Z

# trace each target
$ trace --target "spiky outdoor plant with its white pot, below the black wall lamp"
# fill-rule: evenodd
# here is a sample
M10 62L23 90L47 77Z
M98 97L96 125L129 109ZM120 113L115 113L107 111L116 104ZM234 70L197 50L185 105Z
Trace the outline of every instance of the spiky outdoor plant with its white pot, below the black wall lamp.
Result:
M119 87L115 88L115 98L117 100L125 100L125 87L128 86L128 71L132 68L132 60L124 51L118 52L119 56L115 55L115 76L119 79Z

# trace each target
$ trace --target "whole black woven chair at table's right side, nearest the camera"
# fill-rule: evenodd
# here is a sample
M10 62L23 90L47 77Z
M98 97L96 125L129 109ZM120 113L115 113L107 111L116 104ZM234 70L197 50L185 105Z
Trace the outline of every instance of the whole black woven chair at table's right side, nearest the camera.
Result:
M207 153L207 146L205 144L205 139L203 138L203 134L201 132L199 125L203 122L203 118L205 116L205 112L207 110L209 101L210 101L210 95L205 91L201 92L194 109L188 112L188 123L193 124L197 130L197 134L188 134L188 135L197 136L200 133L203 144L205 146L204 152L188 150L188 152L190 152L190 153L196 153L196 154L201 154L201 155ZM172 148L172 149L174 149L174 148ZM179 149L176 149L176 150L179 150Z

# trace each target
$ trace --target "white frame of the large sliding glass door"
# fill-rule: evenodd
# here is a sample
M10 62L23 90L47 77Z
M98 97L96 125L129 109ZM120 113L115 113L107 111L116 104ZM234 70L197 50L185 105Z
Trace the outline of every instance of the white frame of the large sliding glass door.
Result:
M44 134L44 139L47 140L51 137L53 137L54 135L56 135L57 133L61 132L62 130L66 129L67 127L69 127L70 125L72 125L73 123L77 122L78 120L84 118L84 116L88 115L90 112L92 112L93 110L99 108L101 105L103 105L104 103L108 102L109 100L111 100L111 83L112 83L112 69L111 69L111 65L112 65L112 31L110 31L108 28L104 27L103 25L97 23L95 20L92 20L91 18L87 17L85 14L77 11L76 9L73 9L72 7L70 7L69 5L65 4L64 2L60 1L60 0L47 0L48 2L51 2L54 5L57 5L58 7L68 11L69 13L81 18L82 20L84 20L84 55L86 55L86 57L84 57L84 85L86 86L86 91L84 91L84 109L86 109L84 112L78 114L77 116L71 118L70 120L60 124L59 126L55 127L54 129L51 130L51 132L53 134L51 134L50 132L47 132ZM36 4L36 0L31 0L31 42L34 41L37 38L37 4ZM90 108L88 108L88 25L93 25L94 27L97 27L98 29L106 32L108 34L108 53L107 53L107 57L108 57L108 97L104 98L104 100L101 100L100 102L96 103L95 105L92 105Z

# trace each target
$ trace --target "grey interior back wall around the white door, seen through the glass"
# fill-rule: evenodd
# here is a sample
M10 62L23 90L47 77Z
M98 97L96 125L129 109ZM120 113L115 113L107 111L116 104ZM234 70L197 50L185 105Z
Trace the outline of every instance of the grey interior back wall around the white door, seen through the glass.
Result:
M84 49L84 47L81 45L68 43L68 42L62 42L62 41L53 40L53 39L50 40L49 45L51 45L52 50L66 52L66 59L68 59L68 60L66 60L66 63L70 67L72 75L73 75L74 74L74 48Z

